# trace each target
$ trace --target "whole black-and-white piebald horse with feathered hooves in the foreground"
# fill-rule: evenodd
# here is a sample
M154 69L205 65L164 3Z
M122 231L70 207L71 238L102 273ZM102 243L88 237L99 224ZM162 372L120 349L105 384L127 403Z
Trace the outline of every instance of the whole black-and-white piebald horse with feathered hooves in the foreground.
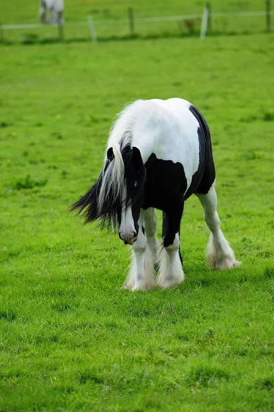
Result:
M85 221L119 229L133 245L128 290L168 288L183 282L180 222L184 203L198 196L210 230L207 263L213 269L240 264L220 230L209 128L186 100L137 100L111 128L98 181L71 206ZM162 244L155 208L163 211ZM157 281L154 268L159 267Z

